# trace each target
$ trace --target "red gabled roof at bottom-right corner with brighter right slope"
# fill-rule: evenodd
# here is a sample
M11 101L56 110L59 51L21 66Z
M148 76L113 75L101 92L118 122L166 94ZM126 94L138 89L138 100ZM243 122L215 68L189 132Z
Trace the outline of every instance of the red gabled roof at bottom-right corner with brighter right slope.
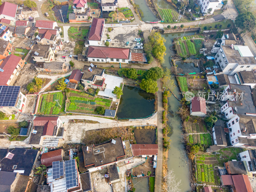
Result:
M253 192L247 175L232 175L237 192Z

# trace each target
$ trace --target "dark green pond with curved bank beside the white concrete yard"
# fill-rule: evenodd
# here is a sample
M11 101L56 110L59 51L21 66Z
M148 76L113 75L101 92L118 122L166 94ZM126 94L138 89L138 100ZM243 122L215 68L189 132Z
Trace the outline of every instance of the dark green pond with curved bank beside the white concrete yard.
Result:
M154 113L155 95L136 87L124 86L116 116L143 118Z

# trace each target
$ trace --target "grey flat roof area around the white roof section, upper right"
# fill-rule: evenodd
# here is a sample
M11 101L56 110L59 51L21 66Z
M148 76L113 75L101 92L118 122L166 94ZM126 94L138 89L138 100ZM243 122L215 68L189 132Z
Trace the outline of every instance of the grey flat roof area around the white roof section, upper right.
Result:
M238 63L238 65L256 65L254 57L241 57L238 50L231 49L230 45L222 45L221 47L229 63Z

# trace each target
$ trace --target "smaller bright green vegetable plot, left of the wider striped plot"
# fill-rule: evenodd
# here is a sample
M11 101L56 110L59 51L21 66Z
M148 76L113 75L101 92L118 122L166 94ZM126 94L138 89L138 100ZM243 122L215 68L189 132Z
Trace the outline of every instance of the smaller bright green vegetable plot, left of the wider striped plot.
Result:
M65 103L65 97L62 92L44 94L39 101L38 114L57 115L64 112L62 103Z

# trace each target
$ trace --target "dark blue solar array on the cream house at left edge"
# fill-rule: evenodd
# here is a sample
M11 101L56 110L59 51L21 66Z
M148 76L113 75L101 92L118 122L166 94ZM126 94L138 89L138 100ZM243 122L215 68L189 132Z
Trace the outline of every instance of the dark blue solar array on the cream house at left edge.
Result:
M15 106L20 86L0 86L0 106Z

